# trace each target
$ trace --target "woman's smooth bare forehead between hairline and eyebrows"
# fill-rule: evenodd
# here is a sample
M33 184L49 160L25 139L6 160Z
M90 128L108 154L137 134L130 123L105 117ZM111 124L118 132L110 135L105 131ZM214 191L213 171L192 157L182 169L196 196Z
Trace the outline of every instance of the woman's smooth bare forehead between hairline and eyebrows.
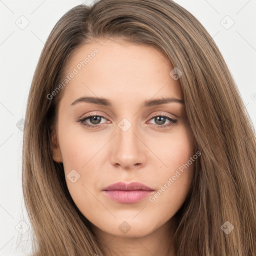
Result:
M181 99L178 80L169 72L170 61L155 47L121 40L95 41L76 49L66 63L65 95L138 100L171 96ZM84 94L84 95L83 95ZM64 95L64 96L65 96Z

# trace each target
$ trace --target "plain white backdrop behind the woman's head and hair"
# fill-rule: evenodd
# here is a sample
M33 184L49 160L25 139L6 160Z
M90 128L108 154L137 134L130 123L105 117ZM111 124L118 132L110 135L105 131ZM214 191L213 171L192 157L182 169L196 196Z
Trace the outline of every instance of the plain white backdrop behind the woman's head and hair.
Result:
M26 232L29 221L21 190L20 119L25 116L39 55L56 21L71 7L91 2L0 0L0 256L30 252L32 237ZM175 2L190 11L213 37L255 127L256 0ZM27 248L23 248L25 244Z

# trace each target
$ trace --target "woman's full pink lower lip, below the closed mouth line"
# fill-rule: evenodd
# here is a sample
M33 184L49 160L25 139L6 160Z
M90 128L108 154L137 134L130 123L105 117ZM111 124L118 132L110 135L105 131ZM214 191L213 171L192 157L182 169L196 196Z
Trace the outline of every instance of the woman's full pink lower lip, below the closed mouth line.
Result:
M149 190L103 190L103 192L115 201L122 203L134 203L142 200L153 191Z

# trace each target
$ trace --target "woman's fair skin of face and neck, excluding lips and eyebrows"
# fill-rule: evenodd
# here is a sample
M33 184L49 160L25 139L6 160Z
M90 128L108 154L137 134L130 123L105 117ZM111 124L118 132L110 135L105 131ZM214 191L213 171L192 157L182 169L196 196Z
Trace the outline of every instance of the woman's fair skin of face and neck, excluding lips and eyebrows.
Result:
M183 99L173 66L156 48L124 41L95 41L81 46L66 65L66 75L97 48L99 52L65 86L52 133L53 159L63 162L67 187L73 201L93 224L95 234L111 248L105 255L175 255L168 243L173 234L173 215L183 204L194 173L194 162L154 202L149 197L136 203L120 203L102 189L117 181L138 181L158 191L194 152L193 136L184 104L170 102L141 107L144 100L161 97ZM107 98L112 106L88 102L71 103L81 96ZM89 113L103 116L85 123ZM168 115L177 122L164 128ZM118 123L131 126L123 131ZM158 117L159 118L159 117ZM67 174L80 177L72 183ZM155 192L152 192L154 194ZM126 221L130 230L120 231ZM124 225L124 224L123 224Z

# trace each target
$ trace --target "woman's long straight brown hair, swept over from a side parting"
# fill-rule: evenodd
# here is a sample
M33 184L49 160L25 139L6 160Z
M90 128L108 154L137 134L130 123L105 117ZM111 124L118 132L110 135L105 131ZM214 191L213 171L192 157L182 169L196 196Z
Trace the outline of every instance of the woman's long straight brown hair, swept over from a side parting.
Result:
M176 255L255 256L255 130L213 39L171 0L77 5L50 32L34 72L23 134L22 187L34 255L104 255L68 192L62 163L52 159L51 127L64 88L52 99L47 95L61 83L75 49L107 38L156 47L182 71L178 80L201 155L175 214ZM221 229L225 221L234 227L228 234Z

